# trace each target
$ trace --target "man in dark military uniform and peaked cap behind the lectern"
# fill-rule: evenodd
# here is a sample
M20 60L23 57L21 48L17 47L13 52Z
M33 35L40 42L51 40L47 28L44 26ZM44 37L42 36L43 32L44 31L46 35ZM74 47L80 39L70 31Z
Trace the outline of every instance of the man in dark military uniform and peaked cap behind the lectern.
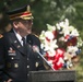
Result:
M33 15L27 5L8 14L12 30L0 37L0 82L29 82L29 71L45 70L33 50L37 46L40 51L40 42L32 34Z

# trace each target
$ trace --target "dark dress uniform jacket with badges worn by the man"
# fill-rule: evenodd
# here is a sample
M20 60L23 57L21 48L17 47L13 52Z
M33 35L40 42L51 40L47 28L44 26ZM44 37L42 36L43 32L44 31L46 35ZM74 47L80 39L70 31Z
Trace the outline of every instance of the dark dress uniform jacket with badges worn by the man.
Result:
M40 48L35 35L27 35L25 51L13 31L3 34L0 38L0 82L8 79L12 79L12 82L29 82L28 71L45 69L42 58L32 49L34 45Z

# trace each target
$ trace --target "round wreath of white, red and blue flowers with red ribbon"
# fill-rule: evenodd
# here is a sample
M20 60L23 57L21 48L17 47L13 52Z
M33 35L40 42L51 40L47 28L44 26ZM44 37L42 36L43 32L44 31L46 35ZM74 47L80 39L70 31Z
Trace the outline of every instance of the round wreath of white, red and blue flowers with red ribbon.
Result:
M45 58L55 70L72 68L83 45L78 30L69 25L68 19L54 26L47 24L47 31L42 31L39 39Z

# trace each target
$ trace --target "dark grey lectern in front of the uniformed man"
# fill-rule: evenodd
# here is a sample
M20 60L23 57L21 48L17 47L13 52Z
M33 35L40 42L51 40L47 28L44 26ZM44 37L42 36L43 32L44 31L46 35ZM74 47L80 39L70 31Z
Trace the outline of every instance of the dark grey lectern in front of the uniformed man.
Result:
M74 70L31 71L29 82L76 82Z

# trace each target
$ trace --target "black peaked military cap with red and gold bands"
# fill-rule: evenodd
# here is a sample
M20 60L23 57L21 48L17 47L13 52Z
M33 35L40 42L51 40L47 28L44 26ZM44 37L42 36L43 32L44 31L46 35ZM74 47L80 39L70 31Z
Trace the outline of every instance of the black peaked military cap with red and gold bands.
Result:
M8 15L9 15L10 20L15 20L15 19L20 19L20 17L23 20L33 19L29 5L25 5L25 7L9 11Z

